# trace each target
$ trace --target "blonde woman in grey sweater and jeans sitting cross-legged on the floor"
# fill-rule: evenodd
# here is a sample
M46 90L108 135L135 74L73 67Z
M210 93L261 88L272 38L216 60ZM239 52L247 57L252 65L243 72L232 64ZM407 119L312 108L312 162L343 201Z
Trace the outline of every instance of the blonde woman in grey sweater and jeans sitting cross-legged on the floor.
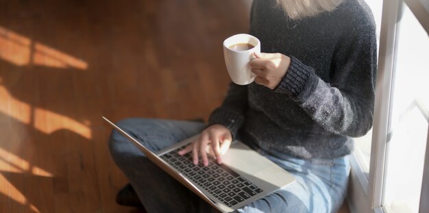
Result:
M372 125L376 27L363 0L254 0L250 33L261 51L247 86L230 84L208 125L132 118L119 126L154 151L201 132L179 153L217 162L234 138L297 182L237 212L336 212L346 195L352 137ZM210 206L112 131L110 150L147 212L208 212Z

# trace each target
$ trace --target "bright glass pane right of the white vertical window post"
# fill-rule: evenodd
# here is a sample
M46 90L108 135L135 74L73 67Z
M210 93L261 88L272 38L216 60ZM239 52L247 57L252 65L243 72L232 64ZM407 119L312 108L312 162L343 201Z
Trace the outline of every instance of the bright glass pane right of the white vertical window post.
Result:
M428 139L429 38L405 4L400 15L382 198L389 213L419 212Z

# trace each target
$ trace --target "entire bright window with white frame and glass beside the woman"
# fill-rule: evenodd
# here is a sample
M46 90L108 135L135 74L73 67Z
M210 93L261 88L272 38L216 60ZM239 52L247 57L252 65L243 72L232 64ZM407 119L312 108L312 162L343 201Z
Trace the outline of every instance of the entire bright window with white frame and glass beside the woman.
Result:
M428 212L429 1L365 1L379 33L376 108L372 133L356 139L350 208Z

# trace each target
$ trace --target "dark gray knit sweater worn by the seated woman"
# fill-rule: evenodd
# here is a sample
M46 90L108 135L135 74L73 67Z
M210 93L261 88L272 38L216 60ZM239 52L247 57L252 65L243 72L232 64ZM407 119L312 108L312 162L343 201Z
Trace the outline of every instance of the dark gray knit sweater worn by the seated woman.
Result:
M363 0L345 0L332 12L291 21L274 0L254 0L250 34L261 51L291 57L271 90L231 83L209 125L234 137L298 158L349 154L352 137L371 129L376 79L376 26Z

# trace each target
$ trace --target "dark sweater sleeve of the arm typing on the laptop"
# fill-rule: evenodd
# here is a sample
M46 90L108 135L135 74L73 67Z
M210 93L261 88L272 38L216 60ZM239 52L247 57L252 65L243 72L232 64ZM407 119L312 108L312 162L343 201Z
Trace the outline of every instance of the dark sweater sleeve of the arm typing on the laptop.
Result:
M230 129L232 138L236 138L238 129L245 121L247 106L247 85L241 86L231 82L222 105L210 114L208 125L223 125Z

